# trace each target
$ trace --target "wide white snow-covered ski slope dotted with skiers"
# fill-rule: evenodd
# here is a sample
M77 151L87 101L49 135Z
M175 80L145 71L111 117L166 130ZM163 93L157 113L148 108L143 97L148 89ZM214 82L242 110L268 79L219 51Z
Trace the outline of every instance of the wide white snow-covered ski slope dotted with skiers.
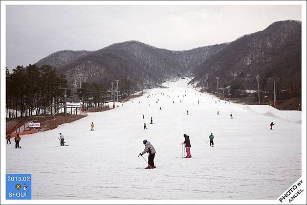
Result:
M188 81L21 136L23 149L11 140L7 173L32 174L32 199L276 199L301 176L300 111L218 102ZM59 147L60 132L69 146ZM192 158L181 158L184 133ZM138 157L144 139L157 150L157 169Z

